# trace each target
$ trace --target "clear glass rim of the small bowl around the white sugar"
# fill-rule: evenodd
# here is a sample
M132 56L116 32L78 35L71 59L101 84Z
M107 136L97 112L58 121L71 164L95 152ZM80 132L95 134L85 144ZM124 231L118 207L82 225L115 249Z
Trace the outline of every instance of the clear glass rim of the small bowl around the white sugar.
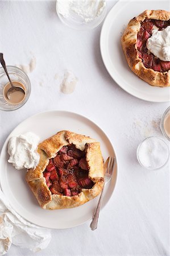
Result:
M146 166L144 165L144 163L142 163L141 159L140 159L140 150L141 150L141 146L146 143L147 141L150 141L150 140L159 140L161 141L162 145L164 145L164 148L165 150L167 150L167 159L165 160L165 162L163 164L161 164L161 166L156 166L156 167L152 167L152 166ZM157 154L159 154L159 152L157 152ZM138 159L138 162L140 163L140 165L144 168L147 168L148 170L152 170L152 171L156 171L156 170L160 170L161 168L163 168L164 166L166 166L166 164L168 163L168 160L169 160L169 147L167 145L167 143L164 142L163 139L159 138L159 137L148 137L146 139L144 139L138 146L137 148L137 151L136 151L136 155L137 155L137 159Z

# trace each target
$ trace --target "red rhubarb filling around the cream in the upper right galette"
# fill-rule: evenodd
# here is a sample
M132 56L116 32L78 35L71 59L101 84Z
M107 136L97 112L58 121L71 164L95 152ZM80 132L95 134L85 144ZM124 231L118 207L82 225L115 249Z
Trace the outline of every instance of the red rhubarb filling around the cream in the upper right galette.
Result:
M139 58L142 59L143 64L146 68L152 68L154 71L166 72L170 69L170 61L163 61L157 58L154 54L148 52L146 43L147 39L152 35L152 29L154 27L163 30L170 26L170 20L156 20L156 19L145 19L141 23L140 30L137 35L136 47L138 48Z

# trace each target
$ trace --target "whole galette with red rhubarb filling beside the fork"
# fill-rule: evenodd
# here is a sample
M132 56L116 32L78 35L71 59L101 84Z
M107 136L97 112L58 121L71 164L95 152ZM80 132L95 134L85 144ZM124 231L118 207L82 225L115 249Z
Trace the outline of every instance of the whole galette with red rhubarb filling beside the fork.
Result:
M26 180L44 209L73 208L96 197L104 183L99 142L60 131L38 146L40 160Z

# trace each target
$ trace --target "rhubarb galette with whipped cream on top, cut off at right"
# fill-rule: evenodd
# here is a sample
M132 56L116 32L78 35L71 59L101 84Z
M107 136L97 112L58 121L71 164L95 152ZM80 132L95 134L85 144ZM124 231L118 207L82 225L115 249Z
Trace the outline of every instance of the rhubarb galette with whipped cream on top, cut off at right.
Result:
M170 86L170 13L146 10L133 18L121 38L131 70L154 86Z

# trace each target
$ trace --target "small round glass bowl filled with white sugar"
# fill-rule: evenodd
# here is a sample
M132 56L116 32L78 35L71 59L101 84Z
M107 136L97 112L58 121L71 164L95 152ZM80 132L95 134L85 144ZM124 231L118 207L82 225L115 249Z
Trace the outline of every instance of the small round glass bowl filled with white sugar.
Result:
M141 166L150 170L159 170L168 163L169 147L159 137L148 137L139 144L137 158Z

